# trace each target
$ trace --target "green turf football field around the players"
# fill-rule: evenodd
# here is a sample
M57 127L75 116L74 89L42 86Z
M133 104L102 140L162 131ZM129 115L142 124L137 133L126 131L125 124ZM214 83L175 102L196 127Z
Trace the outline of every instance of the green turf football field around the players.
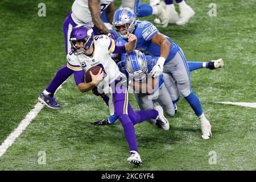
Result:
M46 3L46 17L38 16L40 2ZM143 161L135 168L126 162L129 147L121 124L90 125L108 117L108 108L91 92L80 93L72 76L55 95L63 109L44 107L0 157L0 169L255 170L256 109L217 102L256 102L256 1L186 2L196 12L188 24L156 27L179 44L187 60L225 60L225 69L191 72L193 90L213 125L212 139L200 139L197 117L181 98L177 114L168 118L170 131L147 122L135 126ZM208 15L212 2L217 4L216 17ZM40 92L65 64L63 21L72 3L0 2L0 143L34 108ZM139 109L132 93L130 102ZM46 152L46 164L38 163L40 151ZM216 154L216 160L209 153Z

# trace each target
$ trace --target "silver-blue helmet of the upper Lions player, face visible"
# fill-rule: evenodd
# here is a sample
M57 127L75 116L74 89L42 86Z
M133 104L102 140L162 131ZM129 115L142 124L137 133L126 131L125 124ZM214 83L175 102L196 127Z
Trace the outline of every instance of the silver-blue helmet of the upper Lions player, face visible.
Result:
M127 38L137 24L136 15L129 7L123 7L115 11L113 17L113 26L121 38Z

